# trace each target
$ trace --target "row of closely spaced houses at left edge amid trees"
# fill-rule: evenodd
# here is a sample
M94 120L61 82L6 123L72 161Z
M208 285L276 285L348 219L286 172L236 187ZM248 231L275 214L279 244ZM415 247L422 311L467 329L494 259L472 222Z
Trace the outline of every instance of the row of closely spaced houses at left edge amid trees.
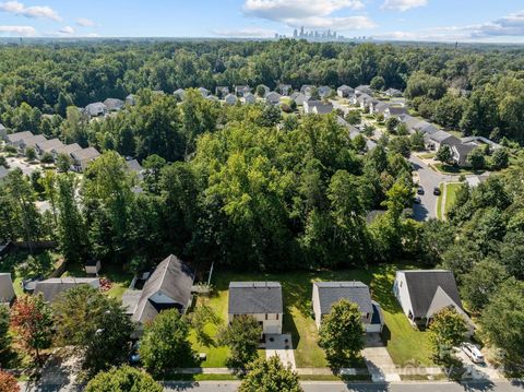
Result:
M87 165L96 159L100 153L95 147L83 149L78 143L63 144L59 139L47 139L43 134L33 134L31 131L16 133L0 133L0 136L8 145L25 154L28 149L33 149L38 157L50 154L53 159L61 154L68 155L72 159L71 168L75 171L83 171Z

